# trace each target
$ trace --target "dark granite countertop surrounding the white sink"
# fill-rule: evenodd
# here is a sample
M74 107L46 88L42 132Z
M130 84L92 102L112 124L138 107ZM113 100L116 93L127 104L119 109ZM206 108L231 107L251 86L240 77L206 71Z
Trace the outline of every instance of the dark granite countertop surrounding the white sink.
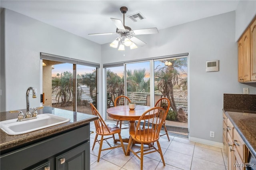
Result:
M21 110L26 113L26 109ZM57 109L52 107L44 107L38 110L38 114L51 113L61 117L69 118L70 121L53 127L44 128L41 130L36 130L33 132L28 132L26 134L20 135L8 135L3 130L0 130L0 151L1 154L7 150L11 150L18 147L24 147L29 144L38 142L40 140L56 136L73 128L80 127L84 124L90 123L98 119L94 115L89 115L85 113L79 113L74 111L67 111L63 109ZM1 112L0 120L10 120L17 119L18 113Z

